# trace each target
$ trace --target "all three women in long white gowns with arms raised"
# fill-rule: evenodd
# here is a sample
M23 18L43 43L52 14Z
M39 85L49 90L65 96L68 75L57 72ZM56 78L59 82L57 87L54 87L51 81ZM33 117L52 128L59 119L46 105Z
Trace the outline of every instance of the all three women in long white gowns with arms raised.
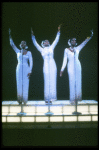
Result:
M57 66L54 60L54 48L57 45L60 38L60 28L56 38L52 44L48 40L42 41L41 46L37 43L34 33L31 29L31 38L34 46L41 53L43 63L43 74L44 74L44 100L47 104L57 100ZM91 30L91 36L77 46L76 38L68 40L69 48L64 50L63 64L60 71L60 77L67 65L67 71L69 76L69 90L70 90L70 102L75 103L76 100L82 99L82 88L81 88L81 64L78 59L80 50L86 45L86 43L92 38L93 31ZM30 51L27 51L28 46L25 41L22 41L19 45L21 50L18 49L11 37L11 30L9 29L9 40L10 45L17 54L18 64L16 67L16 82L17 82L17 99L18 103L26 105L28 101L29 91L29 78L33 68L33 57ZM29 64L28 64L29 61Z

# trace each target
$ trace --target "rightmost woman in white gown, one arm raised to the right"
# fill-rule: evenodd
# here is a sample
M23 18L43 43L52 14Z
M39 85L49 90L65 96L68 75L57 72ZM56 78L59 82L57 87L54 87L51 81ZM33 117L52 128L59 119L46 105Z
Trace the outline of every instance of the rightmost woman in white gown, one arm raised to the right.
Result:
M62 76L68 60L67 71L69 76L70 103L75 103L76 100L82 99L81 64L78 57L81 49L92 38L93 31L91 32L91 37L87 37L87 39L85 39L85 41L77 47L76 38L72 38L71 40L69 39L68 44L70 47L64 50L64 58L60 71L60 76Z

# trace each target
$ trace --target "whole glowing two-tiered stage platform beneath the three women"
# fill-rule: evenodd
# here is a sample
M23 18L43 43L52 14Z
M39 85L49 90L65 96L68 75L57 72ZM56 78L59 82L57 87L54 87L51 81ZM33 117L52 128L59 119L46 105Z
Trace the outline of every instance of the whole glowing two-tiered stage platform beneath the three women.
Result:
M83 124L90 122L98 122L98 102L95 100L78 101L77 112L81 114L73 114L75 105L71 105L69 100L57 100L50 105L50 112L52 115L46 115L49 112L49 106L45 101L28 101L26 106L23 105L23 112L25 115L19 116L21 106L17 101L3 101L2 102L2 123L6 124L20 124L26 125L41 125L41 124L65 124L75 123ZM28 125L28 124L27 124ZM70 125L70 124L69 124ZM33 127L33 126L32 126Z

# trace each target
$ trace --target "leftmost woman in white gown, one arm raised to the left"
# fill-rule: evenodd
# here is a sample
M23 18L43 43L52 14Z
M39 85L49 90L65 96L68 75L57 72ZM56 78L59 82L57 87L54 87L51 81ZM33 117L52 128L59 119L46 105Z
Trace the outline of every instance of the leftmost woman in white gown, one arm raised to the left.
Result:
M16 67L17 99L19 104L22 104L22 102L26 104L28 101L29 78L33 67L32 54L30 51L26 50L28 47L25 41L22 41L20 44L21 50L18 49L11 38L10 32L11 30L9 29L10 45L17 54L18 60Z

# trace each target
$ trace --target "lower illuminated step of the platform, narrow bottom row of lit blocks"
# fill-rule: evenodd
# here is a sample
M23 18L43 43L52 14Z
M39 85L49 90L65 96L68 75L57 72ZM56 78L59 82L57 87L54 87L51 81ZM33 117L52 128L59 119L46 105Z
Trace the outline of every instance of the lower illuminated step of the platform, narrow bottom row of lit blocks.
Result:
M90 122L98 121L98 115L53 115L53 116L6 116L2 122Z

